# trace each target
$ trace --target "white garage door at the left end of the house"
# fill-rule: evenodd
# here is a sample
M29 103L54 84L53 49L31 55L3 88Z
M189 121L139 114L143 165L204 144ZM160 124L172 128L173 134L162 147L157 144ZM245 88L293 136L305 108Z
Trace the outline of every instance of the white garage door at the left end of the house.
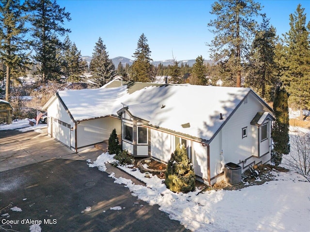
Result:
M53 118L52 133L53 138L70 148L71 125L59 119Z

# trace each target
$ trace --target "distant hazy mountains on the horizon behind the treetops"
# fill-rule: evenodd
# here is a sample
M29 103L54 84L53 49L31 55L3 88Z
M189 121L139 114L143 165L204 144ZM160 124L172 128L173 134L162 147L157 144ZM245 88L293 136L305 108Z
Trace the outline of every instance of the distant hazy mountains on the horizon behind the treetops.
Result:
M83 56L82 57L83 60L85 60L88 65L90 64L92 57L89 56ZM126 64L132 65L132 63L134 62L134 60L129 59L129 58L125 58L125 57L115 57L111 59L115 68L117 68L118 64L121 62L123 64L123 66L125 66ZM181 64L183 63L188 64L190 67L194 65L194 63L196 62L195 59L187 59L187 60L178 60L179 62L179 66L181 66ZM160 60L160 61L153 61L153 64L155 66L157 66L158 64L162 64L164 66L168 66L168 65L173 65L173 59L165 59L165 60ZM207 64L209 63L210 65L213 63L212 60L204 60L204 63Z

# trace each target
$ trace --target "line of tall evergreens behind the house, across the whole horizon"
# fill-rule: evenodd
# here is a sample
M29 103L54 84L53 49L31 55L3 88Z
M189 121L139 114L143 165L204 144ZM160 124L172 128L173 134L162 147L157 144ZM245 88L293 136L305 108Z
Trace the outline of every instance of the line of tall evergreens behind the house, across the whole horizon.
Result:
M275 86L282 83L290 94L291 105L301 111L309 109L310 22L306 20L305 9L298 4L294 14L289 15L290 30L279 39L269 19L260 13L261 8L254 0L217 0L212 4L210 14L216 18L208 27L214 39L207 45L214 65L209 67L203 65L202 56L196 58L193 67L179 66L176 59L171 66L155 67L147 38L142 33L133 54L133 65L119 64L116 69L99 37L90 69L91 82L101 80L93 87L107 83L117 73L125 80L142 82L153 81L157 74L162 74L171 76L171 83L208 85L221 79L224 86L252 87L263 99L272 101ZM40 74L41 83L82 80L81 74L88 67L68 37L70 29L62 26L65 20L71 20L70 13L56 0L23 3L0 0L0 13L1 78L5 75L7 80L6 100L9 100L11 81L18 81L17 77L31 69L31 64L35 64L34 73ZM261 24L256 22L257 17L261 17ZM25 39L26 34L31 40ZM62 42L60 37L65 35ZM206 76L210 82L203 78Z

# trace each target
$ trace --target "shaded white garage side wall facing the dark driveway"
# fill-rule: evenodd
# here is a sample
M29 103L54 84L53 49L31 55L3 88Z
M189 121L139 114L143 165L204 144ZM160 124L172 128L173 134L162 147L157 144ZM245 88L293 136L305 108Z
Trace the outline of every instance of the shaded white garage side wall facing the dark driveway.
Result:
M93 145L109 139L113 129L121 134L121 120L114 117L96 118L78 123L78 147Z

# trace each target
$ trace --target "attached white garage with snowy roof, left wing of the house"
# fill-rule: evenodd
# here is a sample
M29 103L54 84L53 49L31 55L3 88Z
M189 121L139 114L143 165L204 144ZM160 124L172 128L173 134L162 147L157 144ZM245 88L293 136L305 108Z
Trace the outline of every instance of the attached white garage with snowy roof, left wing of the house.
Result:
M121 134L117 99L126 92L126 87L59 91L42 108L48 135L78 152L108 140L113 129Z

